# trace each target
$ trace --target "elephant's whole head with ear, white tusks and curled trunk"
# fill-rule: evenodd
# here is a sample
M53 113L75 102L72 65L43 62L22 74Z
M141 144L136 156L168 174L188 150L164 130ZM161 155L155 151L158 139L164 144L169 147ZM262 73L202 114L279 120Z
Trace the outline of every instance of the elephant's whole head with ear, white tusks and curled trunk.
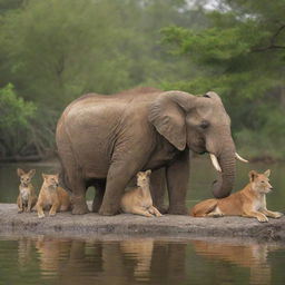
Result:
M235 160L247 160L235 150L230 119L217 94L163 92L150 106L148 119L177 149L188 147L198 154L208 153L218 171L218 179L213 184L214 196L223 198L230 194Z

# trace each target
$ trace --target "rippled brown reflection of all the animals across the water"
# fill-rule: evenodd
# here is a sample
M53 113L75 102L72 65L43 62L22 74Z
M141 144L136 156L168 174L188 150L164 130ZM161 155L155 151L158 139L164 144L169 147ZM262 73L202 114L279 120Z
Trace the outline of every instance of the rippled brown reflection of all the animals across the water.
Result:
M20 238L17 243L18 269L39 273L39 278L29 284L38 284L41 279L45 284L62 285L222 284L226 281L272 284L276 268L273 272L268 255L281 249L268 244L58 240L43 236ZM0 253L2 250L0 242ZM277 274L284 279L283 271L277 271Z

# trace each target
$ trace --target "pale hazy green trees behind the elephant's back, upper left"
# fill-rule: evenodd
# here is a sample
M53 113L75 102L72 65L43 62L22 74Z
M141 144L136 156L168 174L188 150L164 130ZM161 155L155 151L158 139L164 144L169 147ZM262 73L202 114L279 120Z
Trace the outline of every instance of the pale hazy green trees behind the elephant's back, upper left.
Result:
M8 144L2 155L45 157L60 112L85 92L187 78L188 62L165 52L159 30L203 18L189 14L186 0L0 0L0 87L12 82L37 106L19 125L26 150ZM12 132L2 137L18 141Z

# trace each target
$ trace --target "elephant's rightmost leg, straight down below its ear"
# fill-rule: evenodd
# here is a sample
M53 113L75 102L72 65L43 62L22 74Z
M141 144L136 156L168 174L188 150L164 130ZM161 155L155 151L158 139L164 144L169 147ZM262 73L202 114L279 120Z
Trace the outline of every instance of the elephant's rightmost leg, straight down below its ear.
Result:
M189 151L184 150L166 169L169 209L168 214L187 215L185 205L189 180Z

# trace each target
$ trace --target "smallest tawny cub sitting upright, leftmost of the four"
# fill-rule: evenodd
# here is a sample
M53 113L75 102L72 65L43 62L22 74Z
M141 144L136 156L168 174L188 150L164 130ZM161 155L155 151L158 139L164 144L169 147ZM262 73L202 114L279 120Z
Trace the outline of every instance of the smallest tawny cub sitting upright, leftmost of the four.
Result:
M29 173L24 173L21 168L18 168L17 174L20 177L20 193L17 199L18 213L31 212L37 203L37 195L31 184L31 178L36 174L36 170L31 169Z

